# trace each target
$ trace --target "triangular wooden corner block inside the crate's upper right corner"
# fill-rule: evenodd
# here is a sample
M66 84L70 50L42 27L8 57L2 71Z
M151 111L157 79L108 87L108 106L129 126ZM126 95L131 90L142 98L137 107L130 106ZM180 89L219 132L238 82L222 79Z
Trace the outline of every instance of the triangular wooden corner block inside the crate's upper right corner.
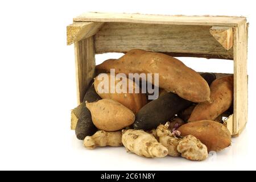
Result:
M210 34L216 39L226 50L233 47L233 27L213 26L210 28Z

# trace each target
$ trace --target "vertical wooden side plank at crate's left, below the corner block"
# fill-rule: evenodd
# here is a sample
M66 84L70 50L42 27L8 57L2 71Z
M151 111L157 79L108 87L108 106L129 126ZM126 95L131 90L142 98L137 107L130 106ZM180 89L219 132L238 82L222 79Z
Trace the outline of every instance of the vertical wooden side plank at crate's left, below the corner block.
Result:
M95 75L95 51L93 36L75 43L77 102L80 104L86 89Z

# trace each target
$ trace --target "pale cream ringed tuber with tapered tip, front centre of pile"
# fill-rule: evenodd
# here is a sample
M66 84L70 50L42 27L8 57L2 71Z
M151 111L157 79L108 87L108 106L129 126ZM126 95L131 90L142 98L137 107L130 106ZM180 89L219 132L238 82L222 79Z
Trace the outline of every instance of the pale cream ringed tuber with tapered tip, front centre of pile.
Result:
M152 134L143 130L122 130L122 143L127 151L145 158L162 158L168 150L155 139Z

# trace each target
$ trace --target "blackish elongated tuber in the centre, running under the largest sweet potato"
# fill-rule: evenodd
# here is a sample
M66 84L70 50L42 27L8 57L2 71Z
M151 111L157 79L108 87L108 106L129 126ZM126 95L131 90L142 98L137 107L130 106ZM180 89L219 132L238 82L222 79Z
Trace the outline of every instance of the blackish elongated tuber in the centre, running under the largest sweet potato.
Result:
M203 73L203 77L210 84L216 77L212 73ZM151 130L156 129L160 124L170 121L175 114L184 110L193 103L177 96L174 93L162 94L156 100L148 102L136 114L134 129Z

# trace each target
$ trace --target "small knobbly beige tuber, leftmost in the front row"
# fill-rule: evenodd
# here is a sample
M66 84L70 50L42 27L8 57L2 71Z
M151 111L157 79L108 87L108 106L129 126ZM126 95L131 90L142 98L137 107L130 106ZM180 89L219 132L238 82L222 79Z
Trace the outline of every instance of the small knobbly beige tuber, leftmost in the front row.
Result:
M122 146L122 132L106 132L106 131L97 131L94 135L87 136L84 139L84 146L88 149L94 149L96 146L105 147L112 146L118 147Z

